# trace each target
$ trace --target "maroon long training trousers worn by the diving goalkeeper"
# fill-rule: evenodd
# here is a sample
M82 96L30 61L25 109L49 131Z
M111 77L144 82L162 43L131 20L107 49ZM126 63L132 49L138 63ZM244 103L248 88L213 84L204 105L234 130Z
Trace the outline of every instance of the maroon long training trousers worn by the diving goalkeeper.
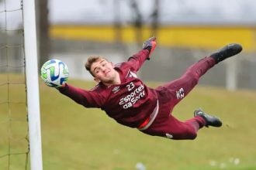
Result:
M206 124L202 117L178 121L170 113L195 87L199 78L214 65L214 59L206 57L190 66L179 79L157 87L155 90L158 95L159 111L153 124L142 132L171 139L194 139L199 128Z

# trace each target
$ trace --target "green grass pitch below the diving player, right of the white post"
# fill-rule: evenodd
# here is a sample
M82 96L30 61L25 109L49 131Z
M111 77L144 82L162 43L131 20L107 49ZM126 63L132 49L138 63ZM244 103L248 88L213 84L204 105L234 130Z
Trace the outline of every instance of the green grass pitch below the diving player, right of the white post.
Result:
M78 80L69 83L85 89L94 86ZM195 87L172 114L185 121L202 107L220 117L223 127L203 128L193 141L174 141L117 124L102 110L75 104L40 81L43 169L133 170L138 162L147 170L256 169L255 103L256 91Z

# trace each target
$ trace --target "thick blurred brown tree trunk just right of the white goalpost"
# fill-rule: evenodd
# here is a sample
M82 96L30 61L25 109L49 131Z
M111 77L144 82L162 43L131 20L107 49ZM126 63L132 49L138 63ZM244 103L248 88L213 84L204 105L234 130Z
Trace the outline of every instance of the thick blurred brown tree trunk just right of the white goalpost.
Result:
M38 56L39 68L49 59L50 39L48 22L48 0L36 1L37 37L38 37Z

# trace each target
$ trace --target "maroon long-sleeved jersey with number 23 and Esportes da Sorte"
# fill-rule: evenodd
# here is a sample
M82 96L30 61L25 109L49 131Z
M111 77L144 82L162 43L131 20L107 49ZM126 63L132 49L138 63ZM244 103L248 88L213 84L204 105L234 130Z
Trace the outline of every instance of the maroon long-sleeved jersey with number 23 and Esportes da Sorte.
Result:
M137 78L137 71L148 57L143 49L127 62L116 64L121 83L106 87L99 83L92 90L66 84L60 92L85 107L99 107L119 124L138 128L154 111L157 93Z

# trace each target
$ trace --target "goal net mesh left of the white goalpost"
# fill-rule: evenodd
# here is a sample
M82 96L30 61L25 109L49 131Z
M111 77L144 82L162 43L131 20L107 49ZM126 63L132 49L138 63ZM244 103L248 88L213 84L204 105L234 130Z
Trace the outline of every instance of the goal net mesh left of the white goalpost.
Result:
M28 169L22 1L0 1L0 169Z

